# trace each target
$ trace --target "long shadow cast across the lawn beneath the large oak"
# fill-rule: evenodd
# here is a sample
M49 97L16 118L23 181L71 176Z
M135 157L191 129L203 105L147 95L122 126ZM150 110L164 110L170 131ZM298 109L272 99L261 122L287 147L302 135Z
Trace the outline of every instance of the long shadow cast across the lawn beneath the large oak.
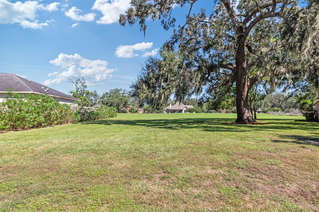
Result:
M199 129L203 131L219 132L249 132L249 131L278 131L278 130L319 130L319 125L314 123L294 122L293 119L258 119L264 125L230 124L234 118L176 118L176 119L138 119L118 120L104 119L78 124L102 124L102 125L131 125L151 127L165 130Z

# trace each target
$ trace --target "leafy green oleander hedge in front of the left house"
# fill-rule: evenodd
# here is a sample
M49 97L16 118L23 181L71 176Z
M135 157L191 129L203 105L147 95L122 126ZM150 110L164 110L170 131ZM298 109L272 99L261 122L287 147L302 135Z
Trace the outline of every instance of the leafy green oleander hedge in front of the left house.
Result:
M10 98L0 102L0 130L67 124L78 121L68 104L60 104L48 95L20 95L8 92Z

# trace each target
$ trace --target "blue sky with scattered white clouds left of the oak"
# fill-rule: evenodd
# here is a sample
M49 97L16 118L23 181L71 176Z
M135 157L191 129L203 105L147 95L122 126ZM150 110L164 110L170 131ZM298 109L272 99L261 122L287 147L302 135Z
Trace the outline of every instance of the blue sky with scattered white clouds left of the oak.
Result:
M172 30L165 31L158 20L149 21L144 37L138 25L120 26L118 14L128 1L0 0L0 72L62 92L73 88L68 78L81 75L90 90L99 93L129 89L147 58L142 55L157 55ZM202 6L195 5L195 11ZM174 8L177 24L183 23L188 9Z

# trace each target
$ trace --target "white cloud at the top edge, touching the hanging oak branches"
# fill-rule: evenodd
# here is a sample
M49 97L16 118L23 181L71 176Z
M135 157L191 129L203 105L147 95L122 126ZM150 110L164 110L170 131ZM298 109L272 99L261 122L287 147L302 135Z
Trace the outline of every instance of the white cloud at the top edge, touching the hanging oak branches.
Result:
M130 7L131 0L96 0L91 9L99 10L103 16L96 21L98 24L112 24L119 20L121 13Z

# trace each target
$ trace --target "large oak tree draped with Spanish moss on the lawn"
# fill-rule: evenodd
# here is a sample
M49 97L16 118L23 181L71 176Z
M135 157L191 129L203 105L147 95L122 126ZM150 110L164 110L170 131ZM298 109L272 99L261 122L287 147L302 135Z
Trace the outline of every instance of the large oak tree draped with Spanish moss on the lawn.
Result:
M136 96L162 102L174 93L182 101L186 95L200 94L203 88L227 93L235 83L236 122L255 122L249 110L249 90L257 81L267 78L272 87L278 76L290 81L293 74L304 72L304 66L296 65L302 63L308 64L316 81L319 16L315 0L301 5L311 7L314 14L309 17L300 9L299 0L211 1L210 14L205 8L193 14L196 2L132 0L126 14L120 16L121 25L139 21L145 33L148 18L162 19L168 29L174 27L174 6L189 7L185 24L174 30L161 48L160 58L147 60L133 84Z

